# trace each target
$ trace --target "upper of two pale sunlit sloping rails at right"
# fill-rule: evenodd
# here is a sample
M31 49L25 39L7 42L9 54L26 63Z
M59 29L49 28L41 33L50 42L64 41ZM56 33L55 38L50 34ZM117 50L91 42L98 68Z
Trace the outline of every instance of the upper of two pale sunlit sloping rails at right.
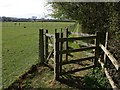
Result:
M117 70L119 70L120 65L119 65L118 61L113 57L113 55L102 44L100 44L100 47L105 52L105 54L108 56L108 58L110 59L112 64L115 66L115 68Z

